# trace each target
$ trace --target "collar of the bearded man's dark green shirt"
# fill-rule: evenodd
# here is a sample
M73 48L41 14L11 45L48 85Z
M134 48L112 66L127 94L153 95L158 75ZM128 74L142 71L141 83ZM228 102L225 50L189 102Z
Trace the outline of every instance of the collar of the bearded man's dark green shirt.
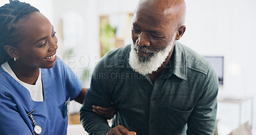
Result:
M129 45L129 51L127 51L127 54L124 58L124 63L122 64L123 68L131 68L129 65L129 53L131 51L131 46ZM172 76L172 74L176 75L180 79L187 79L187 61L186 61L186 55L184 52L184 48L182 47L182 44L179 42L175 42L175 46L173 49L172 57L169 62L169 66L165 75L163 75L164 79L167 79L168 77ZM131 68L132 69L132 68Z

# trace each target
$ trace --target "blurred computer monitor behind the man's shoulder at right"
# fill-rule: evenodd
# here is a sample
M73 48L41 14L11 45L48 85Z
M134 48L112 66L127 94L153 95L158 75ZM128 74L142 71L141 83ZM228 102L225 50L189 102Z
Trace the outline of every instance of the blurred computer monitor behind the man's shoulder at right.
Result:
M218 75L219 84L223 85L224 57L223 56L204 56L212 64Z

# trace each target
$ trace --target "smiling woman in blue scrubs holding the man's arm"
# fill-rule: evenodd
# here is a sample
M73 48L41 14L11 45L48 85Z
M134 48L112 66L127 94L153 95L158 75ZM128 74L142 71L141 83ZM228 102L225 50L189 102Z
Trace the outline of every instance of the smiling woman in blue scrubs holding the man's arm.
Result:
M51 22L28 3L0 8L0 134L67 134L68 103L86 89L56 56ZM115 108L95 113L111 117Z

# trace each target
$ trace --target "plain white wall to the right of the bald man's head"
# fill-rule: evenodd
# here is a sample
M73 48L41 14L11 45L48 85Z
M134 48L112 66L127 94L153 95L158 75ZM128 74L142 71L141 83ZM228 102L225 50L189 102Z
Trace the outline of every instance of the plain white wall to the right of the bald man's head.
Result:
M195 0L187 3L187 31L182 43L204 55L225 56L223 91L227 95L252 95L256 63L256 1ZM239 75L228 72L228 65L241 65Z

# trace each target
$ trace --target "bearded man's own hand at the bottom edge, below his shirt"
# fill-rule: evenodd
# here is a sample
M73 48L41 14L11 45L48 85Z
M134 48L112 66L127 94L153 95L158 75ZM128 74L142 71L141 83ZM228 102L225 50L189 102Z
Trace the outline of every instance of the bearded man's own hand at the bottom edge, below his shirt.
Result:
M106 135L136 135L136 132L128 131L124 126L117 125L111 129Z

